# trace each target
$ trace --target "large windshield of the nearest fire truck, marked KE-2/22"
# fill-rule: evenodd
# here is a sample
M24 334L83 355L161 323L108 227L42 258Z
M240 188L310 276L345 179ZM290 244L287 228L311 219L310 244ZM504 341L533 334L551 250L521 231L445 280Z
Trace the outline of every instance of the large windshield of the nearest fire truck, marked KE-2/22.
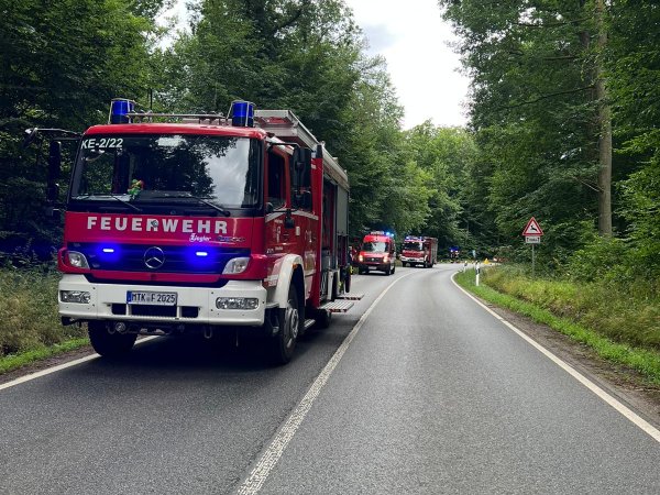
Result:
M80 144L73 204L103 201L254 208L257 145L246 138L194 134L94 135Z

